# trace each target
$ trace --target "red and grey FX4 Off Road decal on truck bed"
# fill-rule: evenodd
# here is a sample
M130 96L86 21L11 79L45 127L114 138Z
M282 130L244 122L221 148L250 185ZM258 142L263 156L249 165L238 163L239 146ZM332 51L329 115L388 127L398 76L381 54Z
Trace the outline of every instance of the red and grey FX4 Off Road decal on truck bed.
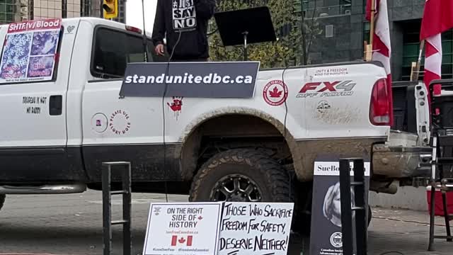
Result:
M354 87L355 83L352 81L309 82L302 87L296 97L352 96Z

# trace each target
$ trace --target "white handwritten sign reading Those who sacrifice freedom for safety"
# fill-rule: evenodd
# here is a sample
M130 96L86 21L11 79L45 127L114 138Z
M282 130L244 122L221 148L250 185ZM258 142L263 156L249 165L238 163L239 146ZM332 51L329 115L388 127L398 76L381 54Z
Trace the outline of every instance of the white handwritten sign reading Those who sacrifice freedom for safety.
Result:
M294 203L226 202L219 255L286 255Z

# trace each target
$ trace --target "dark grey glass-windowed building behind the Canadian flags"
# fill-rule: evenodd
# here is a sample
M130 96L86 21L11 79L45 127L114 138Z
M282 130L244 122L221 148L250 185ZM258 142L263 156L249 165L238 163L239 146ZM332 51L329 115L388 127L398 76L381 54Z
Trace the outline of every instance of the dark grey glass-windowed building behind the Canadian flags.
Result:
M311 18L316 18L323 31L316 43L311 45L309 59L312 64L363 59L364 41L369 42L369 22L365 20L367 0L302 2L305 21L310 23ZM391 74L395 81L408 81L411 76L411 62L418 60L425 0L387 0L387 5L391 30ZM442 51L442 78L453 78L452 31L442 34ZM420 71L421 80L423 66Z

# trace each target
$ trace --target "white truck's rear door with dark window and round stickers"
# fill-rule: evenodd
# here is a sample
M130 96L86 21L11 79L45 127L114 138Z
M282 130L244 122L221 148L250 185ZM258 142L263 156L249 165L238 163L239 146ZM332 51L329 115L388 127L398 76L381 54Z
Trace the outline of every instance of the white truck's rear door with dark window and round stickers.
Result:
M98 25L92 44L81 113L89 179L101 181L102 163L113 161L132 162L134 181L163 179L162 99L120 98L127 63L144 61L142 35Z

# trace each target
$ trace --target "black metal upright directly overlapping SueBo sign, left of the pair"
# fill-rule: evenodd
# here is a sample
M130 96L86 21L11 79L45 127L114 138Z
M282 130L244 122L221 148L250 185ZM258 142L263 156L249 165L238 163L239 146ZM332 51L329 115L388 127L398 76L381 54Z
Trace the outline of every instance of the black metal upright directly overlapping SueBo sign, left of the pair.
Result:
M350 189L350 165L348 159L340 159L341 236L343 254L352 255L352 208Z

